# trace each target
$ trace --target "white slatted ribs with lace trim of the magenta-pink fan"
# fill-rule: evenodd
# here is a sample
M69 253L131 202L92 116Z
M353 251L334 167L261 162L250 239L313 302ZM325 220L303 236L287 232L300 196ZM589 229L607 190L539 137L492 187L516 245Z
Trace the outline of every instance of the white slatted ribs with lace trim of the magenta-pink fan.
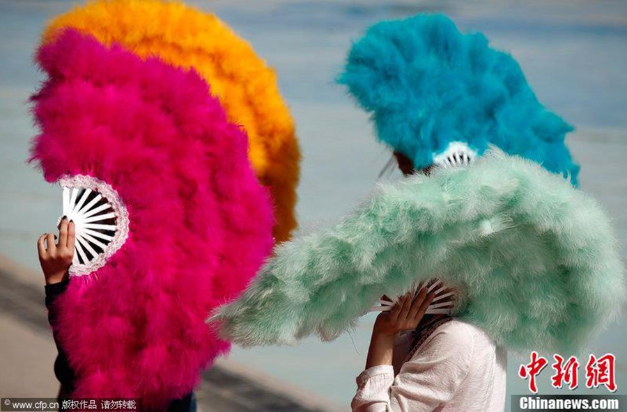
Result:
M75 253L70 276L91 274L103 267L125 244L129 233L128 211L118 192L107 182L95 177L65 175L59 179L59 186L63 188L63 214L75 222ZM95 193L95 196L91 196L91 193ZM87 202L90 196L91 200ZM111 211L107 212L109 209ZM94 223L104 219L115 219L115 225ZM114 235L106 235L102 233L103 230L114 232ZM103 241L108 243L104 244ZM101 248L102 252L97 253L94 245ZM86 251L91 259L86 257ZM79 260L79 255L83 262Z

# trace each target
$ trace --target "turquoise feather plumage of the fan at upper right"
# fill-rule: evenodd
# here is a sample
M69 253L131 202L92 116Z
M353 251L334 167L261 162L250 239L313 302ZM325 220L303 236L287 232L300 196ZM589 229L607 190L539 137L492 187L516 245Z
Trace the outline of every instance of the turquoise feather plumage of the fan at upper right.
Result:
M512 56L445 15L374 24L338 81L370 113L378 139L416 168L438 163L450 145L472 157L497 145L577 184L565 144L573 127L539 102Z

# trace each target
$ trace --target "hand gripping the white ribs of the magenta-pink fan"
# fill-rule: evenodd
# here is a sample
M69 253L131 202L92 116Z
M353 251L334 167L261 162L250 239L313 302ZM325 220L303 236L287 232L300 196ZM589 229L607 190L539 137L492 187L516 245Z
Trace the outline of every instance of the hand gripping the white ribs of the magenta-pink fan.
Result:
M55 237L52 233L44 233L37 241L39 262L46 285L59 283L69 276L68 269L74 258L76 241L74 222L68 222L68 218L63 216L59 223L59 241L56 244Z

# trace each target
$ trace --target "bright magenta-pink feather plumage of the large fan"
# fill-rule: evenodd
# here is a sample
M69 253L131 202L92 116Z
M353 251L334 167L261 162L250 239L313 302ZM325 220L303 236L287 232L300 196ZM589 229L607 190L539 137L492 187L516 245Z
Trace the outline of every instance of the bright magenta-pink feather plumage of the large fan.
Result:
M121 205L116 219L128 218L118 250L70 276L57 303L72 396L160 409L229 350L204 319L270 254L268 193L245 133L195 72L72 30L37 61L48 78L33 96L41 133L31 160L48 182L88 176Z

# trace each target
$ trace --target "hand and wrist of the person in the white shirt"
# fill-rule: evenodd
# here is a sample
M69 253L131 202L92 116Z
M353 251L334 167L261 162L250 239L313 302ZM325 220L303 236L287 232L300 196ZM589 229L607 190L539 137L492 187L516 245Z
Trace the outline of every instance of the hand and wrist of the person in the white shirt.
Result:
M401 296L392 310L378 315L372 330L366 369L376 365L392 365L396 334L415 329L434 297L433 293L427 294L426 287L415 298L412 290Z

